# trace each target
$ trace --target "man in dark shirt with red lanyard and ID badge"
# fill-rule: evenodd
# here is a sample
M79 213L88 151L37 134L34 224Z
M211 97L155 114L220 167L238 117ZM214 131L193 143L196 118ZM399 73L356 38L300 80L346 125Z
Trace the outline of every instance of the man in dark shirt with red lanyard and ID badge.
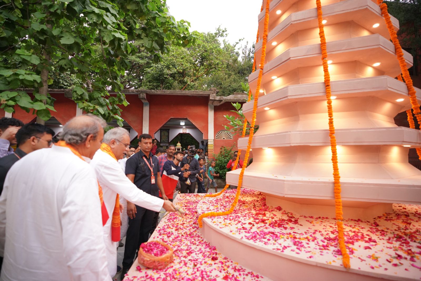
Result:
M159 192L165 196L158 158L151 153L152 136L142 134L139 137L140 151L128 158L126 162L126 176L141 190L158 197ZM123 272L121 276L130 269L140 245L147 242L149 232L152 229L155 212L127 202L127 215L129 216L126 244L123 258Z

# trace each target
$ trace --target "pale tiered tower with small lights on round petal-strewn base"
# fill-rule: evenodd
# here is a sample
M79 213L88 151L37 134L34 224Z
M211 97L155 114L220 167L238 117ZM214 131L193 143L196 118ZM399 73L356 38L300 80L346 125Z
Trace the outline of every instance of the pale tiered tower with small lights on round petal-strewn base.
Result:
M238 210L202 215L203 236L272 280L420 278L421 171L408 163L408 150L421 146L421 132L393 119L412 107L390 40L398 21L391 17L388 29L381 1L273 0L265 9L266 1L249 76L257 108L255 100L243 105L260 126L249 147L253 163L226 177L247 189L236 197ZM403 60L412 66L405 51ZM240 149L248 144L239 139ZM232 202L220 196L205 197L198 212ZM253 215L245 212L250 205Z

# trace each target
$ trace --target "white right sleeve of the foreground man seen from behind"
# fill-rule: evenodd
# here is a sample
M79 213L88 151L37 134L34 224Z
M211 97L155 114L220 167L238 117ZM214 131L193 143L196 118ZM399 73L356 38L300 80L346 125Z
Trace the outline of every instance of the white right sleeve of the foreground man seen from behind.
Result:
M112 280L107 268L98 183L91 169L77 173L61 207L64 256L73 280Z

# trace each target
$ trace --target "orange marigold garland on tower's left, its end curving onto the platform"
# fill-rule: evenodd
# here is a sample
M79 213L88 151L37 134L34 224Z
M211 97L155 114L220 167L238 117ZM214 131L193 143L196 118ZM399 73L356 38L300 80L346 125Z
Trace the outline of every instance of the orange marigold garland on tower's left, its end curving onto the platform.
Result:
M256 92L254 94L254 102L253 102L253 116L251 118L251 124L250 124L250 135L248 137L248 144L247 144L247 150L245 152L245 156L244 156L244 163L247 163L248 161L248 157L250 156L250 148L251 148L251 141L253 140L253 135L254 135L254 126L256 124L256 111L257 111L257 102L258 102L258 97L259 97L259 91L260 91L260 84L261 84L261 80L262 80L262 76L263 76L263 66L264 66L264 59L266 56L266 42L267 42L267 29L269 26L269 0L266 1L266 12L265 12L265 18L264 18L264 30L263 30L263 42L262 42L262 53L261 53L261 58L260 58L260 71L259 71L259 76L257 78L257 87L256 87ZM246 124L246 121L245 121ZM244 130L245 127L243 127L243 134L244 134ZM238 153L240 154L240 153ZM237 155L237 159L238 160L239 155ZM238 163L238 162L237 162ZM236 166L236 165L235 165ZM234 202L232 202L231 207L229 208L229 210L224 211L224 212L209 212L209 213L203 213L199 216L198 224L199 227L203 226L203 218L206 217L216 217L218 215L229 215L230 213L232 213L232 211L234 211L235 206L237 206L238 203L238 198L240 197L240 191L241 191L241 186L242 186L242 178L244 175L244 171L245 171L245 167L246 164L243 164L242 168L241 168L241 172L240 172L240 176L238 177L238 186L237 186L237 192L235 194L235 198L234 198ZM224 190L226 190L226 188L228 187L228 185L226 185L224 187ZM224 191L223 190L223 191ZM219 194L221 194L220 192L218 192ZM219 195L218 194L218 195ZM216 194L212 194L215 196L218 196Z

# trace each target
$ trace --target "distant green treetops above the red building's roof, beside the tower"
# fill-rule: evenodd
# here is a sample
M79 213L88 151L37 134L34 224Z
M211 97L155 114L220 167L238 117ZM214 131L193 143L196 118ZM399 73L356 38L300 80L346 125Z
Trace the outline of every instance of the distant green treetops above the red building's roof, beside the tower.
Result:
M216 87L219 95L227 96L241 91L253 65L252 48L244 47L241 53L234 45L220 39L226 37L226 29L203 34L200 44L178 49L162 62L153 64L136 74L135 88L166 90L208 90ZM136 59L136 58L133 58ZM135 63L132 63L135 65ZM142 64L140 61L139 65Z

